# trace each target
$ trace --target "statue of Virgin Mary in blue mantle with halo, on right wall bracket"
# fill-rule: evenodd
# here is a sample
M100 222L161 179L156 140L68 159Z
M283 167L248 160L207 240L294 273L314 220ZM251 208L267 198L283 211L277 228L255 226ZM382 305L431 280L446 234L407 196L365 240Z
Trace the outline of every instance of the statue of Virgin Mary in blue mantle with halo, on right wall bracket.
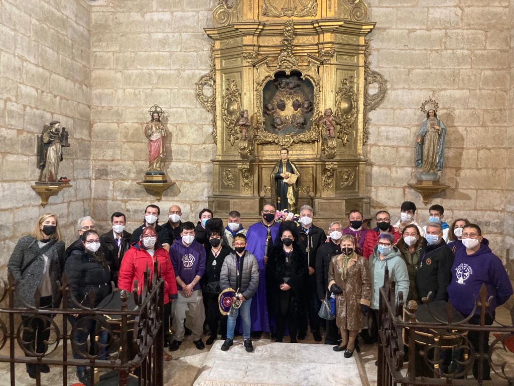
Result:
M424 103L427 113L416 138L416 174L419 180L437 181L443 173L446 126L437 118L437 103Z

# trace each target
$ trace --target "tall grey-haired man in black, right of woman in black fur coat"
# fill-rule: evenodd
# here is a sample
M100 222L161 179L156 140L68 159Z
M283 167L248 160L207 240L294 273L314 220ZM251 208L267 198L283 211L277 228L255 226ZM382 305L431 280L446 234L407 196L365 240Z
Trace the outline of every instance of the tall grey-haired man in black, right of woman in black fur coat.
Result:
M316 253L318 248L326 241L325 232L318 226L313 224L314 209L309 205L303 205L300 208L300 230L299 244L303 251L307 254L307 264L309 270L307 304L305 314L299 321L298 339L303 340L307 335L307 319L310 324L310 331L313 333L314 340L321 342L320 334L320 318L318 312L321 303L318 299L316 290Z

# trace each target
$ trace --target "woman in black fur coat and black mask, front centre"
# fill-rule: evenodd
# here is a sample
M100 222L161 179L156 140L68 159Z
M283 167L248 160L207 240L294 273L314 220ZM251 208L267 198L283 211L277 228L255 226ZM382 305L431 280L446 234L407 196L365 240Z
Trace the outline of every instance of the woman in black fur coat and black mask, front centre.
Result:
M268 310L277 323L275 341L282 342L287 325L291 343L297 343L298 320L306 302L307 255L298 243L295 222L280 224L278 236L266 265Z

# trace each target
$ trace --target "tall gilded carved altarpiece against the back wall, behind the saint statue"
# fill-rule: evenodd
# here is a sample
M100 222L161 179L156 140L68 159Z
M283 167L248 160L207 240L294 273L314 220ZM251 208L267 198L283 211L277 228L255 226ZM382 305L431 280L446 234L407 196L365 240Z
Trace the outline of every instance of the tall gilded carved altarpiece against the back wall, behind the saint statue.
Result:
M368 113L386 85L370 69L365 37L375 24L367 13L359 0L219 2L214 28L205 29L211 71L196 84L213 114L209 206L216 214L258 216L282 147L300 169L299 207L313 206L318 221L342 219L353 208L369 214L362 149ZM327 109L333 132L324 124Z

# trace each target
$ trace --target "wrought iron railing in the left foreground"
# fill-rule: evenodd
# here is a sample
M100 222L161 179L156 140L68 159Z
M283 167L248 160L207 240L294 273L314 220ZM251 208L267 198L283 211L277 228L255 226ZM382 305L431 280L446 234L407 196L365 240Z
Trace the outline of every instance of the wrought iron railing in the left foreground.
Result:
M42 306L41 293L36 290L35 307L31 306L16 291L18 284L10 275L7 281L4 280L0 295L0 304L7 302L7 307L0 308L0 362L9 363L11 386L16 385L16 363L35 366L36 386L42 384L43 365L62 367L63 386L69 384L70 366L72 371L75 371L75 366L88 368L92 386L107 382L102 378L110 378L109 384L113 384L112 377L118 379L120 386L134 383L128 382L129 377L137 379L137 384L141 386L162 386L164 285L157 274L157 266L154 266L153 272L155 274L151 275L147 269L144 273L140 294L137 293L137 282L132 293L120 291L111 283L112 293L96 307L93 290L87 296L89 307L75 299L66 275L63 276L63 283L58 283L59 296L53 299L52 304ZM73 308L68 307L68 296L74 304ZM15 297L24 307L14 307ZM25 324L20 320L22 315ZM78 318L72 327L67 321L69 315ZM35 337L31 341L23 340L24 331L32 328L27 319L38 320L46 326L45 331L49 332L50 337L44 341L44 350L34 349ZM76 332L86 332L90 322L96 324L93 339L86 339L85 343L78 341ZM17 347L21 348L21 352L16 350ZM80 359L73 358L71 350L79 353ZM110 372L99 377L98 369Z

